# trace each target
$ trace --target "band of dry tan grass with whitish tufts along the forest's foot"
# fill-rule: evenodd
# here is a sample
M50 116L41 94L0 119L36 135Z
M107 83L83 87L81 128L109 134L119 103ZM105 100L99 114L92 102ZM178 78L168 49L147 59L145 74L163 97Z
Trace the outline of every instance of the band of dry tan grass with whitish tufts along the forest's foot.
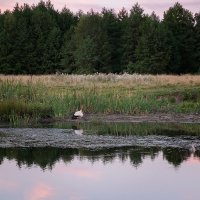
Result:
M200 75L139 75L139 74L95 74L95 75L0 75L0 81L22 84L42 84L45 86L81 86L84 88L105 88L165 85L200 85Z

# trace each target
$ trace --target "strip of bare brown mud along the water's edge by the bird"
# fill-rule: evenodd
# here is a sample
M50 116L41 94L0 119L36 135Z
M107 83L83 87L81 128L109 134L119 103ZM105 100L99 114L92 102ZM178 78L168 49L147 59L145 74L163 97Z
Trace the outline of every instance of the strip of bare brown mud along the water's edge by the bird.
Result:
M85 114L82 119L72 120L71 117L54 117L40 119L40 123L64 123L64 122L104 122L104 123L200 123L199 114Z

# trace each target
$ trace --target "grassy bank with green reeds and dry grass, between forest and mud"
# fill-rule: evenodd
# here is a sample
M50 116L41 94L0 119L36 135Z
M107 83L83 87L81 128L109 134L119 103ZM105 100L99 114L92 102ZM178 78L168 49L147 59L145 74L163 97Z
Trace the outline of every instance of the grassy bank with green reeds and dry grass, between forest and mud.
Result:
M67 117L86 113L199 113L200 76L0 75L0 118Z

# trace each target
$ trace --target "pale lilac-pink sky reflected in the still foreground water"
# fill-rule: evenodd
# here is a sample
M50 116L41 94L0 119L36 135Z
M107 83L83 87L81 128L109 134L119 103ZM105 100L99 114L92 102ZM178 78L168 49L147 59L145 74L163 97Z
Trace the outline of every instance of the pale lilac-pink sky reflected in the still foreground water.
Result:
M75 158L57 162L51 171L19 169L5 159L0 165L0 199L200 199L199 171L200 160L193 156L175 169L162 154L153 161L145 158L138 168L117 158L105 165Z

